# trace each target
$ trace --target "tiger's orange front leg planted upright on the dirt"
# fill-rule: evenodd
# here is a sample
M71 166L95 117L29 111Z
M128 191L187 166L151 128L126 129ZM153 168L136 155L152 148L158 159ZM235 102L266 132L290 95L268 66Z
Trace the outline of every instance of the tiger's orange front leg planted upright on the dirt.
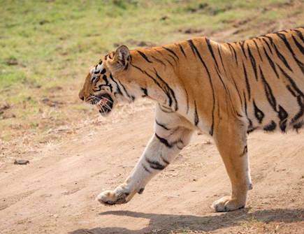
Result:
M229 197L216 200L212 207L217 212L243 208L246 205L247 191L252 189L245 127L236 121L223 123L215 130L214 138L231 180L232 193Z

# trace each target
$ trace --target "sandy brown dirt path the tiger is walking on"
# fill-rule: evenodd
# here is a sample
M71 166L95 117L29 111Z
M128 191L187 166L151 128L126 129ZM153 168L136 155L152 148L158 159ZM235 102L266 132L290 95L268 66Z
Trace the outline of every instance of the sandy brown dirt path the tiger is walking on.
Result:
M303 133L252 133L247 208L215 213L230 184L215 145L194 136L124 205L94 198L124 181L152 136L153 106L116 113L0 171L0 233L304 233Z

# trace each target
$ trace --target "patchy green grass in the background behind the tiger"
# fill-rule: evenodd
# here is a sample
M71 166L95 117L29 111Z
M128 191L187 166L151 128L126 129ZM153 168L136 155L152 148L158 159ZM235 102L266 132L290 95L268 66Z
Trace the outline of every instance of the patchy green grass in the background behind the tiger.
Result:
M138 47L130 41L166 44L189 38L179 29L222 31L229 20L259 22L287 17L273 8L288 0L0 0L0 107L11 103L14 119L0 118L0 128L31 124L39 119L41 98L52 87L71 87L78 94L80 80L115 44ZM265 13L261 13L268 8ZM294 14L301 16L301 10ZM166 17L166 20L161 20ZM299 17L298 25L303 25ZM249 31L249 36L254 30ZM30 101L28 98L31 97ZM24 102L27 108L22 108ZM75 104L80 111L81 105ZM38 121L38 120L37 120ZM0 132L0 137L4 137ZM7 139L7 137L6 137Z

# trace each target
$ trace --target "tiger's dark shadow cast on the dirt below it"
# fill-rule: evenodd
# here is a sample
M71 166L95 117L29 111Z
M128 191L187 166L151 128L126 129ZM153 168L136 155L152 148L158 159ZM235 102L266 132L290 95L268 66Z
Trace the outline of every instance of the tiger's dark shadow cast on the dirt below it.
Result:
M194 215L174 215L174 214L145 214L131 211L109 211L100 215L117 215L150 219L150 224L146 228L134 231L126 228L107 227L78 229L69 234L143 234L143 233L172 233L172 231L215 231L219 228L229 226L240 226L245 221L263 221L266 224L273 221L280 221L285 224L304 221L304 209L271 209L249 213L249 208L215 214L214 216L198 217ZM119 222L119 221L117 221Z

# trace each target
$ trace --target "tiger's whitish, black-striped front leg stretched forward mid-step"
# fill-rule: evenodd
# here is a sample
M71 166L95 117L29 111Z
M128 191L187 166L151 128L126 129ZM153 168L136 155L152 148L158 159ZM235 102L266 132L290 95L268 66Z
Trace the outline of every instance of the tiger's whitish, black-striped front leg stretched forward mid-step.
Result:
M165 124L157 122L154 136L145 148L133 173L116 189L100 193L97 200L107 205L114 205L127 203L136 193L143 193L147 182L164 170L189 143L191 133L191 130L181 126L168 129Z

